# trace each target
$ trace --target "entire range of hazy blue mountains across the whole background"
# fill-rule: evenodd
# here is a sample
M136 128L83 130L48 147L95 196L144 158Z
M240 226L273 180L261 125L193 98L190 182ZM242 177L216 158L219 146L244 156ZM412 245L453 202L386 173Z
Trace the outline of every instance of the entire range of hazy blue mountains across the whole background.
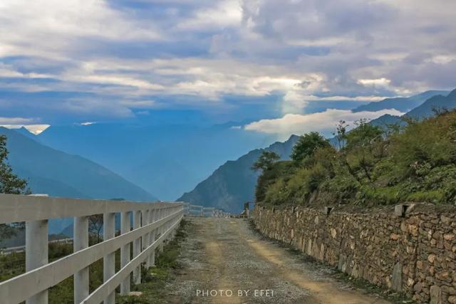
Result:
M387 98L353 111L395 108L405 112L411 107L415 108L405 116L417 119L433 115L434 109L451 110L456 108L456 91ZM384 115L371 123L402 121ZM35 193L133 201L155 200L154 195L172 200L185 193L179 200L239 211L242 203L254 198L257 173L250 167L261 147L273 142L271 136L239 127L244 124L88 123L51 126L40 135L25 128L1 128L0 133L9 138L14 171L28 179ZM287 159L296 140L291 136L266 150Z

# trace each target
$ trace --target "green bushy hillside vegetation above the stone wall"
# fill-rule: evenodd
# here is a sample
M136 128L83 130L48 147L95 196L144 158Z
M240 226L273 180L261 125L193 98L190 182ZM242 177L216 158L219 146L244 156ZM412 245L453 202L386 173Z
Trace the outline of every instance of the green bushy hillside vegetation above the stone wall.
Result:
M347 127L338 123L332 145L316 132L301 136L290 161L262 155L252 168L262 170L257 201L456 204L456 111L385 127L367 120Z

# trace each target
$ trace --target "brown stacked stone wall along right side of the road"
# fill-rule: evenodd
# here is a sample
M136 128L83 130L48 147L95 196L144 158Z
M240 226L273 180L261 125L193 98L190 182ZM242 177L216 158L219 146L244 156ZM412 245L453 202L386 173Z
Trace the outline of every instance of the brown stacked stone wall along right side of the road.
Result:
M403 216L397 210L257 206L252 219L265 236L354 278L418 303L456 303L456 208L412 204Z

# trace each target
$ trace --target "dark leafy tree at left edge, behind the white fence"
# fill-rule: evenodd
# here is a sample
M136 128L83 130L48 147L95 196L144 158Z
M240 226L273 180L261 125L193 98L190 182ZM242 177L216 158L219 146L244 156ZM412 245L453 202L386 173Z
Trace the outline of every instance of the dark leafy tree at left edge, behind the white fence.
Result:
M27 181L14 174L8 163L8 150L6 149L6 136L0 135L0 193L28 194ZM22 228L23 224L0 224L0 239L9 239L16 235L15 228Z

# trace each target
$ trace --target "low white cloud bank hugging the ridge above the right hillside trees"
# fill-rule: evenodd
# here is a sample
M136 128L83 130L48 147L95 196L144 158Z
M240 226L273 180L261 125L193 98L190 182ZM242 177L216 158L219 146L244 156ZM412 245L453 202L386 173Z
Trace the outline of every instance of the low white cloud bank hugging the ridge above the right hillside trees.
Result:
M281 118L259 120L245 125L244 130L274 134L285 138L291 134L302 135L311 131L328 133L335 130L336 123L340 120L345 120L353 126L353 122L356 120L364 118L372 120L385 114L403 115L398 110L352 112L351 110L329 109L312 114L286 114Z

